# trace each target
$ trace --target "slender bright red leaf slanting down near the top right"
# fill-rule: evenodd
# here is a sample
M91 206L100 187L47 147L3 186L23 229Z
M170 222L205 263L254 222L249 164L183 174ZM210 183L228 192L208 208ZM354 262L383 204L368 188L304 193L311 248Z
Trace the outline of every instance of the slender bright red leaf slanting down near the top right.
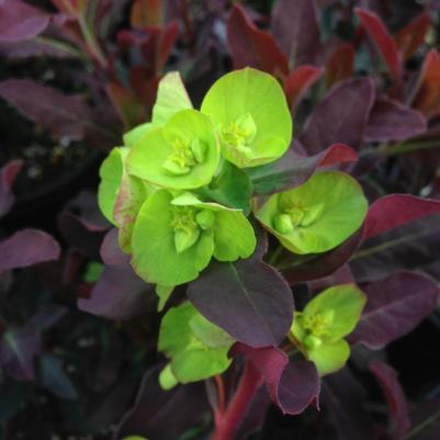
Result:
M398 53L397 45L393 37L390 35L382 20L371 11L362 8L354 9L356 14L359 16L363 29L376 46L383 59L388 67L390 75L395 84L400 84L403 75L403 64L400 54Z

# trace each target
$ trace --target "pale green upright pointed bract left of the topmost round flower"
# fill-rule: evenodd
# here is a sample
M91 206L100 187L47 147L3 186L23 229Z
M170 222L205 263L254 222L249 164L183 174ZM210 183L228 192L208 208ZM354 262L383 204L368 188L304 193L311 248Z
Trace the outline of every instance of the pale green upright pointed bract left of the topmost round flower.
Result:
M159 82L153 123L163 125L180 110L192 109L191 100L178 71L167 74Z

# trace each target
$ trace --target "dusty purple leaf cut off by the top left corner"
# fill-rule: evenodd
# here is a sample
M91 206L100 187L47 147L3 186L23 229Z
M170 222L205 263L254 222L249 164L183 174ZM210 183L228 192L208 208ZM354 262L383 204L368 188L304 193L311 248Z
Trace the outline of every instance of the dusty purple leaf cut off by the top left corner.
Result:
M42 33L49 15L20 0L0 0L0 42L20 42Z

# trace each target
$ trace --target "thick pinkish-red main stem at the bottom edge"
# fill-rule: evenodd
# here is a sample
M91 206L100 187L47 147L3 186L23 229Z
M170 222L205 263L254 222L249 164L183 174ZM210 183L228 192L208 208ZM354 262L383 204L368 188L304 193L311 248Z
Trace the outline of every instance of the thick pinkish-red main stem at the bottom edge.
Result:
M262 377L257 369L246 362L240 384L225 413L216 411L215 430L211 440L233 440L248 406L260 387Z

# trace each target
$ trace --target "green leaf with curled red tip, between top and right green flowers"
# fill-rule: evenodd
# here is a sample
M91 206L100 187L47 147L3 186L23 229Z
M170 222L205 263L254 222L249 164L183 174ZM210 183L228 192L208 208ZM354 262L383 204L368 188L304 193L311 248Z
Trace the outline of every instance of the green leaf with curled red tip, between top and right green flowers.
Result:
M347 145L334 144L312 157L289 149L278 161L249 169L256 194L270 194L303 184L319 167L356 162L357 153Z

